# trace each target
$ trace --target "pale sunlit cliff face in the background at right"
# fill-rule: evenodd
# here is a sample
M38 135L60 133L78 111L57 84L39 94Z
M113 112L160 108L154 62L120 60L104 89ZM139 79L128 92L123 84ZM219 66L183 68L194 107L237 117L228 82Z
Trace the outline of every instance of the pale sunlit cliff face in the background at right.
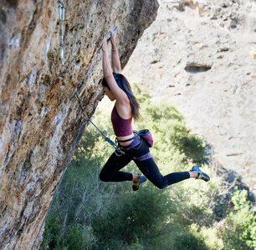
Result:
M124 74L156 101L172 100L213 158L255 191L256 2L159 3Z

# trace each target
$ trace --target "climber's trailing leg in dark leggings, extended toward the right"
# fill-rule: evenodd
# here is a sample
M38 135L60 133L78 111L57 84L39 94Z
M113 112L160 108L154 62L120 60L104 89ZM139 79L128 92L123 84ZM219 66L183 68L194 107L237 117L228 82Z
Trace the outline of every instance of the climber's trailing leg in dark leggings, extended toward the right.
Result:
M148 178L157 188L166 188L169 185L190 178L188 172L169 173L166 176L162 176L153 158L145 161L135 161L135 163L146 178Z

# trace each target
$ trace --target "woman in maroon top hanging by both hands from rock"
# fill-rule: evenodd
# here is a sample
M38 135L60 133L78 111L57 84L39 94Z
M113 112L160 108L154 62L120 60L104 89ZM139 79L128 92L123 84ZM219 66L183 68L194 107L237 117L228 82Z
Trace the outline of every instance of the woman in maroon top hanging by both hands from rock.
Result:
M120 58L115 45L115 34L110 32L111 42L111 66L107 54L107 38L102 44L102 67L104 72L103 88L110 101L115 101L111 113L111 122L114 128L121 152L115 151L100 172L100 180L103 182L133 182L133 190L137 190L141 183L149 179L157 188L166 188L174 183L188 178L197 178L208 182L210 178L202 173L200 168L193 166L188 172L169 173L162 176L156 163L151 157L149 147L145 140L136 136L132 131L132 119L139 117L139 103L131 91L127 79L121 74ZM134 160L141 174L125 173L120 171L128 163Z

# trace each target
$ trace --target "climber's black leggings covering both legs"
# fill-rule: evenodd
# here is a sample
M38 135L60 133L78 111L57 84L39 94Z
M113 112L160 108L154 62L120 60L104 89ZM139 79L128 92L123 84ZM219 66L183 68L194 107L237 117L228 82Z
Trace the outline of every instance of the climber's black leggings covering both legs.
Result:
M125 153L120 156L116 152L113 153L100 172L100 180L103 182L132 181L131 173L120 171L120 169L124 168L131 162L131 160L134 160L137 167L141 170L141 173L143 173L157 188L166 188L169 185L190 178L188 172L169 173L166 176L162 176L153 158L148 158L146 160L135 159L140 158L146 153L149 153L149 148L145 141L142 141L135 148L125 149Z

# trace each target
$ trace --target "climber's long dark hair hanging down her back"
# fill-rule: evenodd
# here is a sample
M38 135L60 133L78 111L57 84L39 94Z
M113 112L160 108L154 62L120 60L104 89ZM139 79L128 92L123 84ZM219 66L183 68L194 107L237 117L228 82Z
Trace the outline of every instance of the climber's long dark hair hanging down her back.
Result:
M114 75L115 82L117 83L117 85L125 92L125 94L127 95L127 97L130 100L130 103L131 103L131 116L135 120L138 120L139 117L140 117L140 112L139 112L140 104L139 104L139 102L137 101L136 97L134 96L134 94L131 91L130 83L125 78L125 76L122 75L122 74L113 73L113 75ZM102 80L102 86L108 87L110 89L108 82L105 80L105 77Z

